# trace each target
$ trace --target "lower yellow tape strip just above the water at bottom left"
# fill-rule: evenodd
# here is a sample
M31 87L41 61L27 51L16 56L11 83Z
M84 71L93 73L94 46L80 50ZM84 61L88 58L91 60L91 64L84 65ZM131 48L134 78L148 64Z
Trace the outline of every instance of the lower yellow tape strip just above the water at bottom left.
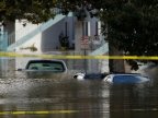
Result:
M79 110L20 110L20 111L0 111L0 115L50 115L50 114L75 114L79 113Z

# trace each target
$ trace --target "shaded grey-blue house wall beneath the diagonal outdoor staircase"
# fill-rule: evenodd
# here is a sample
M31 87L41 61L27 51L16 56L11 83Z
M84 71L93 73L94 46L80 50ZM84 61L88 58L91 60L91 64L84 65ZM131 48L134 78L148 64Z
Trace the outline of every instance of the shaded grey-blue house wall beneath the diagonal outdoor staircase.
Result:
M69 45L74 45L74 17L66 16L48 30L42 33L42 51L54 51L60 49L59 35L63 33L66 36L66 22L67 22L67 36L69 37Z

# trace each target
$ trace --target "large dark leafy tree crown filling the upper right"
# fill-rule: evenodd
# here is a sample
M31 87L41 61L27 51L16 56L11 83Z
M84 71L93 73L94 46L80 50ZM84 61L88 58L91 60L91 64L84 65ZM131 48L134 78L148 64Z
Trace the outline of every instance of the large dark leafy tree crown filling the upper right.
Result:
M106 7L101 16L108 23L110 47L119 46L116 48L127 56L158 56L158 1L114 1L120 2L115 2L113 9L110 8L113 3ZM127 60L133 69L138 68L136 61L158 63L154 60Z

